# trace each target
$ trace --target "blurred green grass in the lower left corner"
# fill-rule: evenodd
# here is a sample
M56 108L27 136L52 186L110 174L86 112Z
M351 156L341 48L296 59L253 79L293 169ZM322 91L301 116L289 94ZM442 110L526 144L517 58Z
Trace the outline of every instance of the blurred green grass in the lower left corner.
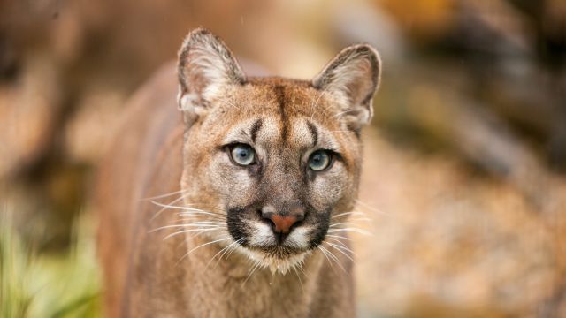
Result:
M98 317L100 275L92 220L81 216L64 254L42 254L25 244L0 211L0 317Z

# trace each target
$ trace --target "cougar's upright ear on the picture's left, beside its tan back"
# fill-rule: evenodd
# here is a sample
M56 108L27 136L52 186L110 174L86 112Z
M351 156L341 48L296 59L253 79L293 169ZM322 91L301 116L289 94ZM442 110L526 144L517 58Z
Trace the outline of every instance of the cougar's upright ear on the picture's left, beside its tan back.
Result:
M222 40L209 30L197 28L187 35L179 50L177 102L186 120L202 115L222 89L242 85L246 76Z

